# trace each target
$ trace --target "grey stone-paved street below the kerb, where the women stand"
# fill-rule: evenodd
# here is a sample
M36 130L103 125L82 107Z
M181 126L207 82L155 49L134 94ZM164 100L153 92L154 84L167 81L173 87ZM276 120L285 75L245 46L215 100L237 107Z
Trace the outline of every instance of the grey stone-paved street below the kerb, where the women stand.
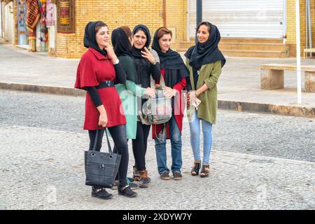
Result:
M103 201L84 183L84 97L1 90L0 111L3 209L315 209L312 118L218 111L209 179L190 176L185 120L183 180L158 178L149 137L151 186ZM133 163L130 146L129 175Z

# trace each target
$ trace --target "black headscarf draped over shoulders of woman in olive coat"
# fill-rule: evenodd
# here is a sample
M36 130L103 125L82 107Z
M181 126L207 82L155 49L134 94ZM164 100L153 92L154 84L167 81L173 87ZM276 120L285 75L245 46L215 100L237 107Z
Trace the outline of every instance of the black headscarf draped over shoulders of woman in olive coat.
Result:
M215 25L207 23L211 27L208 40L205 43L198 42L185 54L185 57L189 59L189 65L194 68L200 68L204 64L214 63L218 60L221 60L221 66L225 64L225 57L218 49L218 43L221 40L220 31Z

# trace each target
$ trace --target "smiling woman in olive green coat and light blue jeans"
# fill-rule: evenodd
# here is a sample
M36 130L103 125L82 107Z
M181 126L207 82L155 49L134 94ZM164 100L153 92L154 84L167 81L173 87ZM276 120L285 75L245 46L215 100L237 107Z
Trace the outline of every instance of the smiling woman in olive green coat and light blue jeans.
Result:
M193 148L194 165L191 174L199 174L200 159L200 121L204 137L204 156L201 177L209 176L209 159L212 146L212 124L216 123L218 109L217 87L225 57L218 49L221 36L218 28L210 22L201 22L197 27L198 42L186 52L186 66L190 77L188 83L188 120L190 144ZM190 85L189 85L190 84ZM201 101L197 106L198 99ZM196 107L197 106L197 107Z

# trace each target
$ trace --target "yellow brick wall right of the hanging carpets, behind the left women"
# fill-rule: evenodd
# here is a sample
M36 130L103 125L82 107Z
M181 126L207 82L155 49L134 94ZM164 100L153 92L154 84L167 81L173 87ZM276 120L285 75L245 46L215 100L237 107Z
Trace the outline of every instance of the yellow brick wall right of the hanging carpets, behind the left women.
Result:
M162 0L77 0L76 34L57 33L55 56L80 58L86 51L83 35L85 25L90 21L102 20L110 31L123 25L133 29L142 23L148 26L153 36L155 30L163 25L162 3Z

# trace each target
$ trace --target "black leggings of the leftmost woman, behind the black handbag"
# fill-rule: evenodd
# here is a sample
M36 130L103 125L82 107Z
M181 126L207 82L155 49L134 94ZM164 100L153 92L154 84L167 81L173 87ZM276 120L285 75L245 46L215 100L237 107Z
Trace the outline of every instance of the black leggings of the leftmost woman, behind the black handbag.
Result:
M121 155L120 165L118 169L118 179L119 186L122 188L127 186L127 169L129 162L128 154L128 144L127 144L127 134L126 134L126 125L117 125L114 127L108 127L111 137L113 137L114 144L117 148L118 154ZM100 151L102 148L102 140L104 136L105 129L99 130L99 136L97 139L96 151ZM90 136L90 149L92 150L94 146L94 139L96 135L96 130L89 130ZM107 140L106 140L107 141Z

